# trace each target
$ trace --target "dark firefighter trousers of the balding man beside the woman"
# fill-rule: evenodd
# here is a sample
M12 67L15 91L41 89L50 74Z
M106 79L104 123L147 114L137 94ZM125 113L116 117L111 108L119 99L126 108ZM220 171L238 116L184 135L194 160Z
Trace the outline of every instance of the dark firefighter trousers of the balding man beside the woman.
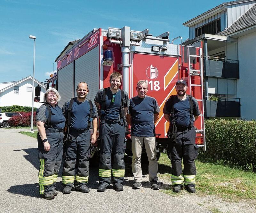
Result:
M79 189L87 184L89 178L91 130L72 130L72 135L72 142L67 141L65 144L62 184L63 187L75 185Z

